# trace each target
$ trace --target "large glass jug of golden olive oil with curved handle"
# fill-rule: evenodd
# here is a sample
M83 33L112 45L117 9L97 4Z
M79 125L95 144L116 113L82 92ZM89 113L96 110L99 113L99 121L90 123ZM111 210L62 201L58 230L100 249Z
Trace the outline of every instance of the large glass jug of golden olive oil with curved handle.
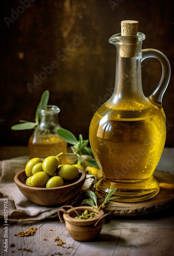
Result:
M129 26L129 23L127 23ZM114 201L136 202L153 198L159 183L153 177L163 152L166 127L162 96L168 85L170 65L164 54L142 50L145 35L113 35L116 46L115 87L111 98L94 114L89 140L103 177L96 189L105 196L116 188ZM160 60L163 74L155 92L145 97L141 84L141 62Z

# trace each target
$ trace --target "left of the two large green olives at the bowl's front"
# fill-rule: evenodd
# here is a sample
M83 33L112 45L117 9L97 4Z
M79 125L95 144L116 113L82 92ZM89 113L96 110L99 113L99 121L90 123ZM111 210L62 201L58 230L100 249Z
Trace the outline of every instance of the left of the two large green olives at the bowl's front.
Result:
M49 176L45 172L38 172L31 177L30 183L32 187L44 187L48 180Z

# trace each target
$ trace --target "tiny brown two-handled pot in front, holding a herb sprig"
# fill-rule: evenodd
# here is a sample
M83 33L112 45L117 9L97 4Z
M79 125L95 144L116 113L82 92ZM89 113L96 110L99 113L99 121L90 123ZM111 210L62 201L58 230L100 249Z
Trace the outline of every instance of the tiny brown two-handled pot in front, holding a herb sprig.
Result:
M66 207L70 209L66 211L64 209ZM99 210L95 218L88 220L74 219L74 217L77 216L76 212L81 215L85 210L96 212L96 209L92 206L72 207L65 205L58 210L60 221L65 221L70 236L77 241L90 241L96 238L103 228L105 217L110 215L105 214L103 210Z

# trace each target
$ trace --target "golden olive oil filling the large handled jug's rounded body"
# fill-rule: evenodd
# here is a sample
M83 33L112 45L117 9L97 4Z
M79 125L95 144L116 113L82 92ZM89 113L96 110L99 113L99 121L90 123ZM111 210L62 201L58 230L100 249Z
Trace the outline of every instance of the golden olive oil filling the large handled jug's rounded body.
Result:
M104 175L97 183L97 190L106 194L110 189L117 188L114 196L118 198L115 201L133 202L151 198L159 191L153 173L166 138L163 111L152 108L153 111L146 109L146 117L142 117L139 111L136 120L122 119L121 114L120 119L113 119L114 110L109 112L105 108L103 106L94 114L89 132L94 157ZM127 112L129 116L136 115ZM154 115L150 116L149 112Z

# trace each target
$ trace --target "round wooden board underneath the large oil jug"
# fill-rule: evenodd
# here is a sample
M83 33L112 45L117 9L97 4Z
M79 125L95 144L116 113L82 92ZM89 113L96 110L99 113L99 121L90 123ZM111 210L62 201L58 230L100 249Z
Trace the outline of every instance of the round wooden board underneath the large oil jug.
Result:
M105 208L105 212L110 212L114 216L136 216L152 214L168 208L174 201L174 176L172 174L156 170L154 177L160 184L160 191L157 196L150 200L136 203L112 201ZM100 201L102 201L102 199Z

